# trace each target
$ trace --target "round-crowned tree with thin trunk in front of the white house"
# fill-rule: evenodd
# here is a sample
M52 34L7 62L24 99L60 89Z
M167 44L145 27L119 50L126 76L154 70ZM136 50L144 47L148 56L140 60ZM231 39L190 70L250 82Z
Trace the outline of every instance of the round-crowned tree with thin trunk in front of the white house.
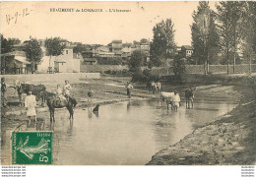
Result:
M66 44L62 43L63 39L60 37L46 38L44 45L46 48L46 55L50 56L49 67L51 62L51 56L59 56L63 53L63 49L66 47Z

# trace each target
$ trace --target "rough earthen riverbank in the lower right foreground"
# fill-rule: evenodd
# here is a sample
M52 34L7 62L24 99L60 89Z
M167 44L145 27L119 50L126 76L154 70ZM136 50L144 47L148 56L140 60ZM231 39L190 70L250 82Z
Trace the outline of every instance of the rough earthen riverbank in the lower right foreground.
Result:
M255 165L255 88L234 89L243 95L236 108L160 150L148 165Z

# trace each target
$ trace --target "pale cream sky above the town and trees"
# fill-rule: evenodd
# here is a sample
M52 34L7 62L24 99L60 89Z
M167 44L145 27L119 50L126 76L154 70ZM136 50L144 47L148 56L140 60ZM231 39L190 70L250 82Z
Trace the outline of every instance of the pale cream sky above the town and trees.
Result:
M214 8L215 2L210 5ZM30 36L37 39L60 36L89 44L107 44L113 39L132 42L152 39L154 26L171 18L176 44L190 45L192 13L197 6L197 1L0 2L0 32L6 38L23 41ZM57 12L58 9L62 12ZM88 12L89 9L97 12ZM113 12L115 9L127 12Z

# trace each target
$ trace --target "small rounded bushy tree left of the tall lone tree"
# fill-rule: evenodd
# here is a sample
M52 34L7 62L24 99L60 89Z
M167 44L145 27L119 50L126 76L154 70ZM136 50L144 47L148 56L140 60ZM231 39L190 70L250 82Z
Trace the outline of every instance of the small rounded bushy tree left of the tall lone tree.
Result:
M131 72L137 72L141 70L144 64L144 59L146 55L141 50L134 50L131 54L131 59L128 62L128 67Z

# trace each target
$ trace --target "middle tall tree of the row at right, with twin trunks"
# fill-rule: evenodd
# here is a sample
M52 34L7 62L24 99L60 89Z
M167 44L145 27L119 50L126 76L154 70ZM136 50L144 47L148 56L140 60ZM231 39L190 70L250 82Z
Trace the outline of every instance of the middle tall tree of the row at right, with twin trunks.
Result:
M229 73L228 65L231 56L233 56L234 72L237 45L241 41L242 5L243 2L239 1L221 1L220 5L217 5L221 46L226 58L227 74Z

